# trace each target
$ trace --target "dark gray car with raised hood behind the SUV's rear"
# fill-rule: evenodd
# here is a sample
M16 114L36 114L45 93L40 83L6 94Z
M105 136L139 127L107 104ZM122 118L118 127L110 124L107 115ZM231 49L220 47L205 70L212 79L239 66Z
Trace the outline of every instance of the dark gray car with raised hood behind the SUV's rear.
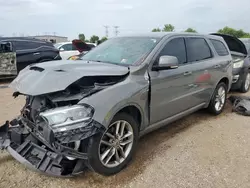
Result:
M233 57L233 84L232 90L239 90L246 93L250 88L250 56L248 53L248 43L246 45L236 37L214 33L213 35L221 36L227 43ZM225 53L222 46L217 43L216 47L220 53Z

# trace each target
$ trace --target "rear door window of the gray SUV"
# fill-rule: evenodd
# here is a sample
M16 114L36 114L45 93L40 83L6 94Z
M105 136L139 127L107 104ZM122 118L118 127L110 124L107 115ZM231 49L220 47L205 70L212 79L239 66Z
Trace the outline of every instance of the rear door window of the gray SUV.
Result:
M203 38L186 38L188 62L201 61L212 57L210 47Z

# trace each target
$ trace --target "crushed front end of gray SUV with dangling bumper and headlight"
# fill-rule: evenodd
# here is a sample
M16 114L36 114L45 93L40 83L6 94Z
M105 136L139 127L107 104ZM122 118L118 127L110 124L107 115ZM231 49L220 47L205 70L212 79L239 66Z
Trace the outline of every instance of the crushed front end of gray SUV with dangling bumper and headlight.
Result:
M91 118L94 113L91 106L77 104L72 94L65 96L62 93L27 96L21 115L0 127L0 149L48 175L81 173L88 159L89 138L105 128Z

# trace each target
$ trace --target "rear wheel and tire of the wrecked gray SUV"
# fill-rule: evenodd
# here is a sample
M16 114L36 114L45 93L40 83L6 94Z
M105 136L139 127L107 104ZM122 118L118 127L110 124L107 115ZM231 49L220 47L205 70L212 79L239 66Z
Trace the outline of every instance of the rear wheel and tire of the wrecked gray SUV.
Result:
M214 115L219 115L225 107L226 99L227 99L227 86L224 82L220 82L216 86L210 104L208 106L209 112Z

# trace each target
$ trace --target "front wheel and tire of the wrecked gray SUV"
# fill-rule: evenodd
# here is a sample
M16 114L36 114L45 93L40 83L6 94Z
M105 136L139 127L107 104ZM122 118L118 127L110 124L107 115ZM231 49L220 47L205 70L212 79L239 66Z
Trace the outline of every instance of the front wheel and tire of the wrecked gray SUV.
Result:
M103 134L90 139L87 166L105 176L124 169L135 152L138 127L138 122L130 115L117 114Z

